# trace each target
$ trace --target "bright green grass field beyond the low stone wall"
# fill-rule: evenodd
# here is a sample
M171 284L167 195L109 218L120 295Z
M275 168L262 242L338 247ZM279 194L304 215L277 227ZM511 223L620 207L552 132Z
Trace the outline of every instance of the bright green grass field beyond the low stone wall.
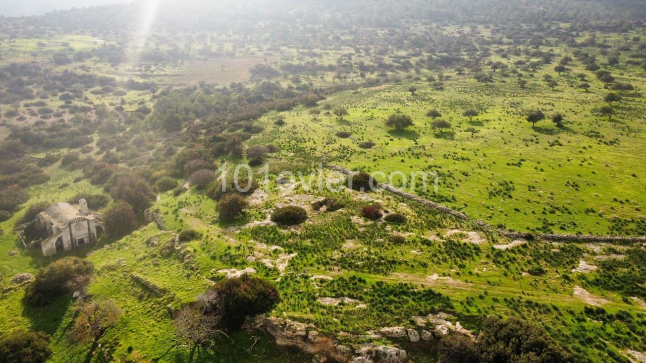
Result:
M641 169L635 167L646 163L643 98L615 103L612 119L595 116L607 90L591 72L590 92L574 88L571 74L578 71L572 67L563 76L539 72L525 89L513 78L484 85L455 76L445 81L445 90L404 82L344 92L324 102L347 107L350 114L344 121L329 113L313 116L307 109L286 112L286 126L271 125L270 119L266 125L271 131L258 143L275 143L304 158L326 158L367 172L437 172L439 191L430 186L419 194L509 229L643 234L645 185ZM635 84L644 76L613 71ZM543 73L554 74L559 86L548 88L539 80ZM419 88L415 95L408 92L410 85ZM430 109L439 110L453 128L433 130L425 116ZM462 116L466 109L478 110L479 116L470 121ZM546 119L532 128L525 120L532 109L544 110L548 117L563 113L565 127ZM384 119L395 112L411 116L413 127L388 129ZM337 138L339 131L351 137ZM362 141L376 145L360 149ZM401 186L401 178L393 184Z

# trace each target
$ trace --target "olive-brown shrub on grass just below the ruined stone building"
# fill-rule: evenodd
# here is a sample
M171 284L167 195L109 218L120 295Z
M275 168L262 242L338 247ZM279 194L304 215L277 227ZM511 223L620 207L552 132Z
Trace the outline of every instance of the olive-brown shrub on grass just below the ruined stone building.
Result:
M34 282L26 288L25 299L36 306L48 304L54 298L78 288L74 282L79 278L88 278L93 269L92 262L87 260L61 258L39 271Z

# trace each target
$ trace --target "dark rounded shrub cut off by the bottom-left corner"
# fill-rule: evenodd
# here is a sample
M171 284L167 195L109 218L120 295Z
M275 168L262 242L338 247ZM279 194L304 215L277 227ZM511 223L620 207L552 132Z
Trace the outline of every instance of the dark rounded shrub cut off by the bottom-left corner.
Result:
M0 336L0 363L45 363L52 355L50 337L39 331L17 329Z

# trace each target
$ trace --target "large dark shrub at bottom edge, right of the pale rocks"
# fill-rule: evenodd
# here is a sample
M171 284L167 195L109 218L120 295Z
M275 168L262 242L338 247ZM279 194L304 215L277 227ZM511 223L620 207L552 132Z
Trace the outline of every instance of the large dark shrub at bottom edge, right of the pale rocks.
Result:
M518 318L485 320L477 346L483 363L574 361L545 330Z

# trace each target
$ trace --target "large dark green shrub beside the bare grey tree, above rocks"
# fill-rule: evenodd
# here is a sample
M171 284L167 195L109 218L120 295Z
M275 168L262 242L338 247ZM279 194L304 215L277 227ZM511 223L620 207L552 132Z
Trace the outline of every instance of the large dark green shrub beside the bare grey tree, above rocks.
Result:
M239 329L245 316L265 313L278 302L278 291L271 282L250 275L227 278L213 287L222 298L222 324Z

